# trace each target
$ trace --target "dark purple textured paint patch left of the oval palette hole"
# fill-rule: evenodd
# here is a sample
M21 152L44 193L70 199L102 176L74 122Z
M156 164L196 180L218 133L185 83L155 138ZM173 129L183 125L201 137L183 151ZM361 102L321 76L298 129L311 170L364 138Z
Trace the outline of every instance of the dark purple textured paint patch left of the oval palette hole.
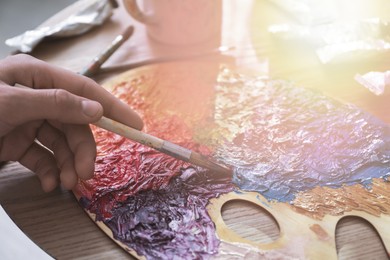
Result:
M218 252L219 240L207 213L211 198L233 190L230 180L188 168L167 186L130 196L97 218L114 238L149 259L207 259ZM80 201L88 208L89 201ZM99 214L99 212L94 212Z

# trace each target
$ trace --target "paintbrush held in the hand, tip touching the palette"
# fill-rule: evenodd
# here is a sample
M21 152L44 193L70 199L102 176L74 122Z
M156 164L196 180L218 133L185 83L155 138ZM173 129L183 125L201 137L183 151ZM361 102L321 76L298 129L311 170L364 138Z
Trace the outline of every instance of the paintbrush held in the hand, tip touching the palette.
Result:
M149 135L147 133L141 132L122 123L116 122L112 119L102 117L99 121L94 123L94 125L106 129L110 132L116 133L120 136L131 139L140 144L156 149L176 159L192 163L194 165L206 168L216 173L225 174L226 176L231 176L233 174L232 170L228 167L217 164L216 162L212 161L211 159L202 154L191 151L187 148L181 147L158 137Z

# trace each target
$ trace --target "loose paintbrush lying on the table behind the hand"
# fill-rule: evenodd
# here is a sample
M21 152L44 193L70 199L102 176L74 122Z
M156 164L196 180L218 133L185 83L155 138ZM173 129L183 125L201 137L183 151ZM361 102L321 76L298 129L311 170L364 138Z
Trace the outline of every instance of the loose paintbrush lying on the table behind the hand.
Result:
M130 36L134 32L134 26L130 25L129 27L126 28L126 30L115 37L115 39L111 42L111 44L103 51L101 52L98 56L96 56L92 62L85 67L80 74L90 77L93 74L95 74L102 64L109 58L111 55L127 40L130 38Z

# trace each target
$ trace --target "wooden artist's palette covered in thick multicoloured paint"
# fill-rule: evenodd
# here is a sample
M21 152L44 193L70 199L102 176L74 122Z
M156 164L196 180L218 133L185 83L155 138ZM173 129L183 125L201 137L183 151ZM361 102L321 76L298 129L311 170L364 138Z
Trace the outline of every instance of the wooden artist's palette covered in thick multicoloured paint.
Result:
M235 169L233 182L101 129L94 179L75 195L110 237L148 259L335 259L345 216L390 246L390 127L358 108L220 64L165 63L105 85L144 131ZM268 211L280 228L260 244L230 230L226 202Z

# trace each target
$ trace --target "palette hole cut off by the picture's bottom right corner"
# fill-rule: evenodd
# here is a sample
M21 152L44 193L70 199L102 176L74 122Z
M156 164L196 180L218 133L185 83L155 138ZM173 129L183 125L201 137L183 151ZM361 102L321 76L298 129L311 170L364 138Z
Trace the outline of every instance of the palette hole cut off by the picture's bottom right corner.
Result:
M372 239L377 240L376 243L370 242ZM348 216L339 220L336 226L336 248L339 260L362 259L362 253L367 252L375 253L378 257L375 259L389 259L377 230L360 217Z

